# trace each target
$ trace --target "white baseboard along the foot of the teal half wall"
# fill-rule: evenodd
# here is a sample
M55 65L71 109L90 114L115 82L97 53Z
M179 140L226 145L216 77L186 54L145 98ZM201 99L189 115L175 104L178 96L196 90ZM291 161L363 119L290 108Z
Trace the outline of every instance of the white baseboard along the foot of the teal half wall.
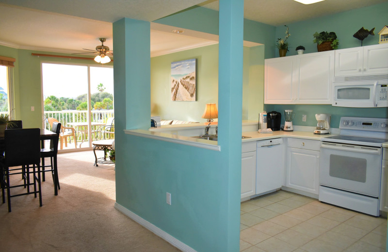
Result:
M114 208L116 208L117 210L119 210L120 212L122 212L123 214L128 216L133 221L136 221L137 223L139 223L140 225L142 225L143 227L145 227L146 229L148 229L149 231L151 231L155 235L161 237L163 240L166 240L168 243L170 243L174 247L178 248L179 250L181 250L183 252L196 252L190 246L184 244L183 242L181 242L177 238L164 232L162 229L158 228L157 226L155 226L151 222L144 220L143 218L141 218L137 214L131 212L130 210L128 210L124 206L118 204L117 202L114 203Z

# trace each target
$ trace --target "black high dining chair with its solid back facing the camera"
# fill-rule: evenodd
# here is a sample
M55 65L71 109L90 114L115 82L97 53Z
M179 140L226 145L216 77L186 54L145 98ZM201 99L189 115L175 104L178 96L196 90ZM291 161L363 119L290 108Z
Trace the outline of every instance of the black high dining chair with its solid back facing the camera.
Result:
M39 205L42 206L42 193L40 184L40 129L6 129L4 133L5 152L4 158L1 159L2 173L2 202L5 203L5 189L7 189L8 212L11 212L11 197L34 194L39 195ZM30 182L30 165L32 165L33 182ZM10 171L10 167L25 166L25 171ZM20 169L19 169L20 170ZM12 172L12 173L11 173ZM23 184L10 184L10 175L24 174L25 181ZM33 191L30 186L33 185ZM11 188L26 187L26 193L11 194Z

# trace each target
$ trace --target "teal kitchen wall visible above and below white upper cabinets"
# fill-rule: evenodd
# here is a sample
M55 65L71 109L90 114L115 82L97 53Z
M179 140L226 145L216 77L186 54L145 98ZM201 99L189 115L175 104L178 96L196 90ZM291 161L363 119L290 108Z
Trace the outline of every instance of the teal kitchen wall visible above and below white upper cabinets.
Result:
M372 5L369 7L355 9L330 16L319 17L307 21L287 24L290 27L291 36L288 39L291 45L290 52L287 55L295 55L295 47L303 45L306 47L305 53L317 52L317 44L312 42L315 31L335 31L339 38L339 49L360 47L361 41L354 38L353 34L361 27L371 30L375 27L374 36L369 35L364 39L363 46L378 44L378 32L387 25L388 2ZM286 28L284 26L276 27L275 38L284 37ZM276 40L274 38L274 41ZM273 47L277 53L275 47ZM276 57L278 57L278 53ZM361 116L387 118L387 108L341 108L331 105L266 105L267 110L273 109L283 114L286 109L293 109L295 112L294 125L316 126L316 113L331 114L332 121L330 126L338 128L341 116ZM302 114L307 115L307 122L302 122ZM282 116L284 123L284 116Z

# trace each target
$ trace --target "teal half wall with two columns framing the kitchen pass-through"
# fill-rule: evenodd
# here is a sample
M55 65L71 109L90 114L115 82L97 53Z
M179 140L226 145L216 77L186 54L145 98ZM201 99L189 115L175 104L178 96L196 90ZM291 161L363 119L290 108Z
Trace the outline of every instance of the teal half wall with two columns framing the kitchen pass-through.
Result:
M222 55L216 91L221 151L124 134L149 127L149 23L113 23L113 46L120 52L114 61L116 202L198 252L239 250L243 5L222 4L219 53L213 52Z

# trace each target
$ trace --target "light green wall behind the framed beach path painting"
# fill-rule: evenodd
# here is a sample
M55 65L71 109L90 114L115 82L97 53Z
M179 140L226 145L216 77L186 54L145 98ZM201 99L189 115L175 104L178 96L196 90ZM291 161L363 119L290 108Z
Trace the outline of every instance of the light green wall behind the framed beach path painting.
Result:
M196 101L171 100L171 63L197 59ZM242 119L257 120L263 107L264 46L243 48ZM151 115L162 119L206 122L205 104L218 107L218 45L151 58Z

